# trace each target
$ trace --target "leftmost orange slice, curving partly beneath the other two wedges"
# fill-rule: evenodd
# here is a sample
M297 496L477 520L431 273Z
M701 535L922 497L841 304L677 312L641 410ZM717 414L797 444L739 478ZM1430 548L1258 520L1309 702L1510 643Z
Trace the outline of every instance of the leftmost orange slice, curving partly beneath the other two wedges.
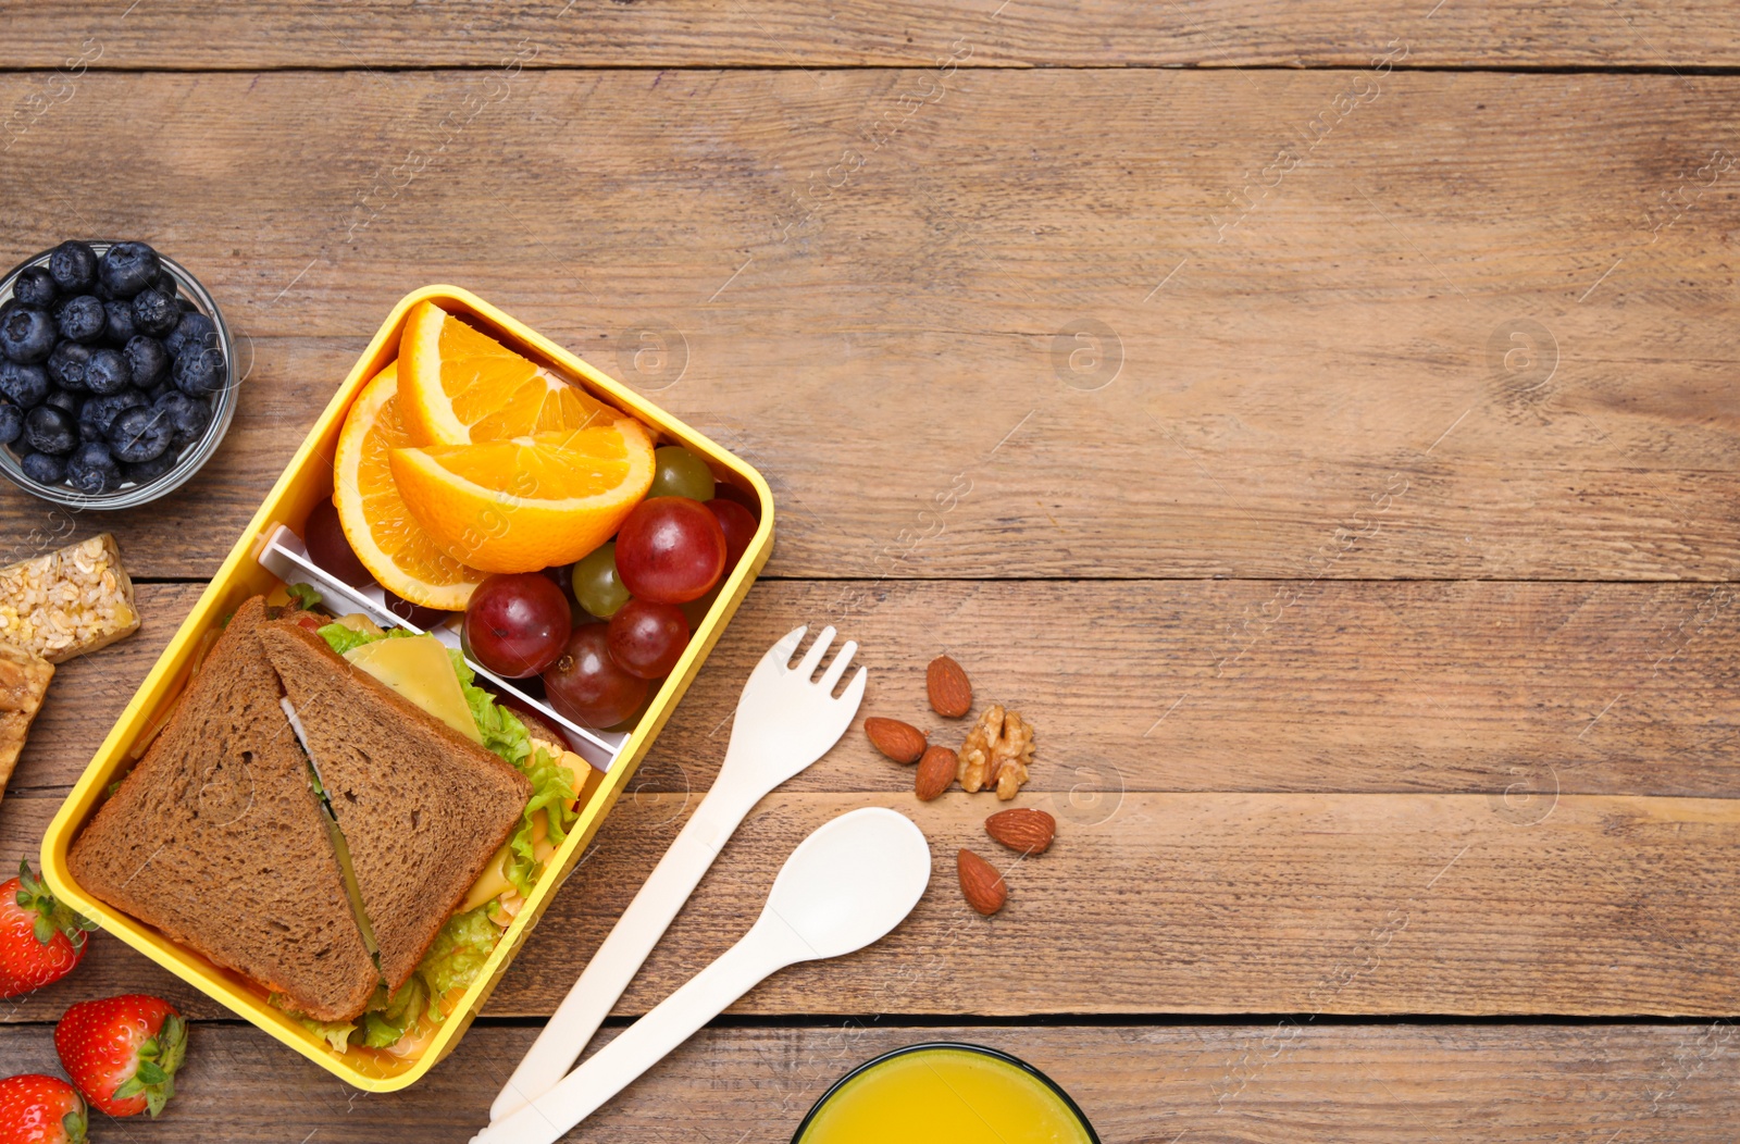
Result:
M390 454L409 445L397 363L362 388L345 416L332 461L332 504L362 567L411 603L458 612L487 572L444 553L418 525L393 483Z

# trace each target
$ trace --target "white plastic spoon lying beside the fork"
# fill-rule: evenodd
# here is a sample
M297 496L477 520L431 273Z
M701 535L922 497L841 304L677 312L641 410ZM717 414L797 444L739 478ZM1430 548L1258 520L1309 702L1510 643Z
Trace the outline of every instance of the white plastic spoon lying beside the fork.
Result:
M931 847L903 814L865 807L799 843L743 939L652 1012L472 1144L553 1144L769 974L837 958L900 925L931 881Z

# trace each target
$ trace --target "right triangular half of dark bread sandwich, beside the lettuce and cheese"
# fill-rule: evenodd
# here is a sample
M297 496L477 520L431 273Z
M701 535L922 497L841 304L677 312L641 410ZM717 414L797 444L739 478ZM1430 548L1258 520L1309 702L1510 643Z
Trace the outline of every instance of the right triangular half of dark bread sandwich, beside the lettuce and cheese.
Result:
M397 991L506 841L532 784L294 622L261 628L308 735Z

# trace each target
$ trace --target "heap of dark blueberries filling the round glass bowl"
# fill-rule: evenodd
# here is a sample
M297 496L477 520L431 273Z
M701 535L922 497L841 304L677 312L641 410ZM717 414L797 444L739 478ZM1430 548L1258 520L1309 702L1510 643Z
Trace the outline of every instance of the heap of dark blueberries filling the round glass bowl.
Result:
M143 242L71 240L0 283L0 454L14 478L94 496L184 476L230 370L211 301L177 275Z

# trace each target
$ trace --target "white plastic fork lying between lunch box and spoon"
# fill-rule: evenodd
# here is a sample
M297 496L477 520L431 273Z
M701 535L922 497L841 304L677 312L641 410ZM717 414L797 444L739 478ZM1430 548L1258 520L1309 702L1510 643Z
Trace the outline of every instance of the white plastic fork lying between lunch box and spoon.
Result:
M531 1104L574 1068L616 998L633 981L750 807L826 755L851 727L865 697L868 668L858 668L839 699L833 697L833 687L846 675L858 643L847 640L821 680L813 683L809 676L833 645L835 633L832 626L823 628L793 668L792 654L806 631L807 624L786 633L750 671L713 788L592 954L586 970L562 998L513 1076L496 1094L496 1102L489 1107L491 1121Z

